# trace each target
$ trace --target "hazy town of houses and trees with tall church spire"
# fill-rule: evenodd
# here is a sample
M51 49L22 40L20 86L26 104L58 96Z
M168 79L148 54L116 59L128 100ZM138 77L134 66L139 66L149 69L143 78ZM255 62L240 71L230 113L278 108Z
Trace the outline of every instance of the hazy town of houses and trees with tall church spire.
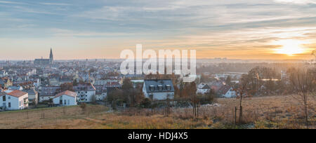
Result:
M234 99L240 104L229 105L233 109L235 106L235 114L239 112L239 119L232 116L237 123L242 122L243 98L298 94L294 73L300 70L293 66L313 66L315 62L233 61L197 60L195 81L185 83L176 74L123 75L121 60L54 60L51 49L48 59L0 62L0 109L6 112L99 104L111 111L127 109L134 115L142 114L140 109L150 114L160 110L165 115L193 109L192 115L199 117L203 107L223 106L218 100ZM308 73L306 86L314 91L315 71ZM315 113L305 113L315 119Z

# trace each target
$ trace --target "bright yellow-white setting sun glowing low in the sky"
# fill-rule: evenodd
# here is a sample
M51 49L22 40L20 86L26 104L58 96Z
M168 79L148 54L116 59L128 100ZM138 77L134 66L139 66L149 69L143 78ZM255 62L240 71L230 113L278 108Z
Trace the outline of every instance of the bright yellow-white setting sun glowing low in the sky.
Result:
M276 41L275 44L282 46L282 48L275 49L275 53L286 54L289 56L305 53L305 49L303 48L303 44L305 43L305 41L298 41L293 39Z

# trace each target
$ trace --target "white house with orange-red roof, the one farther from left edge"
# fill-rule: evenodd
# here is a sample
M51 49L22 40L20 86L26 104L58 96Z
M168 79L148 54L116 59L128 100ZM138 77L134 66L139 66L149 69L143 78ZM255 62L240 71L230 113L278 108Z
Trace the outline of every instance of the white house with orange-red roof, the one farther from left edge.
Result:
M62 93L58 93L53 97L53 104L58 106L73 106L77 105L77 93L70 90L66 90Z

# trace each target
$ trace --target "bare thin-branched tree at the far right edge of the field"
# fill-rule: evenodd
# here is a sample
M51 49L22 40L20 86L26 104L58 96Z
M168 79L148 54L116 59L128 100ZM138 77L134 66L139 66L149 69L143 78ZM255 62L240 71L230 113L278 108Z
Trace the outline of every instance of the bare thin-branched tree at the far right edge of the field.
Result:
M294 87L296 93L300 96L296 99L303 104L306 128L308 128L308 94L315 94L315 69L289 69L289 80Z

